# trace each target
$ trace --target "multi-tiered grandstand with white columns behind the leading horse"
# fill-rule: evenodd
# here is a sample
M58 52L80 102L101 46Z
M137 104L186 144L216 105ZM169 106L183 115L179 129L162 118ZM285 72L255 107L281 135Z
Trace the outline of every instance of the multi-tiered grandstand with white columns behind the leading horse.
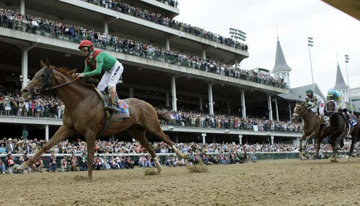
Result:
M40 69L40 59L45 58L51 64L82 71L84 57L78 52L78 42L92 38L96 48L106 50L124 66L122 83L117 85L120 98L135 97L172 111L192 109L209 115L291 121L291 109L302 101L303 94L302 90L289 89L291 69L279 40L274 78L264 69L259 72L260 68L240 66L249 57L251 45L248 49L243 42L200 30L201 25L173 21L180 13L175 4L157 0L121 0L122 5L101 2L0 0L0 8L5 13L10 10L12 16L0 22L1 85L15 89L26 85ZM12 13L16 10L28 15L28 21L16 20ZM32 24L33 20L39 25ZM48 140L62 125L60 118L51 118L57 117L56 112L42 117L2 114L1 128L9 131L4 134L7 137L28 131L28 138ZM298 144L301 135L301 130L259 128L257 124L247 129L194 126L186 121L162 124L175 142ZM111 138L130 140L131 136L123 132Z

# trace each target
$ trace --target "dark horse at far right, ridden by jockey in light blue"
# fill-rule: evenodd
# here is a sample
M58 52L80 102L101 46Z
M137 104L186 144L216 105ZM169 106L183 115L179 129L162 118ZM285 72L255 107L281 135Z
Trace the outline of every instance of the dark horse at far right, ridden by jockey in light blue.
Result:
M336 144L337 142L343 140L346 137L347 135L346 128L348 122L346 121L345 117L343 117L341 114L336 112L336 103L333 100L328 101L326 107L327 107L328 116L330 117L330 128L331 128L330 139L331 139L331 146L333 148L333 157L334 157L334 161L336 161L336 156L337 156ZM355 119L357 119L355 115L352 116ZM351 146L350 146L350 154L348 158L349 163L351 162L351 155L352 152L354 151L354 144L357 141L359 141L359 130L360 130L359 124L360 123L358 121L358 123L354 127L350 128L349 134L351 135Z

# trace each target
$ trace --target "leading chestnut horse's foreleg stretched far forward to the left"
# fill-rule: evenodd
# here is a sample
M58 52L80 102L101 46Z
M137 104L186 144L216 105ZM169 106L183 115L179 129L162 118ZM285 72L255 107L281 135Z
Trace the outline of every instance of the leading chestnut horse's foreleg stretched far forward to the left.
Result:
M28 170L29 166L32 165L43 153L48 151L51 147L54 147L55 144L59 143L60 141L69 138L72 135L77 134L77 131L69 128L66 125L60 126L58 131L54 134L52 138L50 138L49 142L44 144L39 152L37 152L34 156L32 156L28 161L24 162L22 165L17 167L18 170Z

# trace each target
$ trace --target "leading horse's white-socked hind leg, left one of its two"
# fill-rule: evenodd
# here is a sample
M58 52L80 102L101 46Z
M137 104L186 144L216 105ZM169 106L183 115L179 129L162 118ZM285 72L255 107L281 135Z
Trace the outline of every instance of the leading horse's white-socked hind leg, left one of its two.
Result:
M133 125L129 128L126 129L126 131L131 134L132 136L135 137L135 139L137 139L141 145L143 145L143 147L145 147L145 149L147 149L147 151L151 154L151 156L153 157L155 164L156 164L156 169L158 171L158 173L161 172L162 168L160 165L160 162L155 154L155 149L153 147L153 145L151 145L149 143L149 141L146 139L145 133L146 130L144 129L144 127L140 126L140 125Z

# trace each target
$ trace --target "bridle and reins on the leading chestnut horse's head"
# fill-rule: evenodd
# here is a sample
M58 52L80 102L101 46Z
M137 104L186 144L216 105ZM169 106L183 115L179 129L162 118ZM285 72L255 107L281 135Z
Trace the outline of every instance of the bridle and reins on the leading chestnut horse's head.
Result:
M79 79L79 77L76 77L75 79L73 79L73 80L71 80L69 82L66 82L64 84L53 86L53 79L51 77L53 77L54 66L50 66L50 67L46 66L46 67L43 67L41 70L43 70L43 71L41 71L41 73L39 75L39 80L41 81L41 86L33 89L34 94L40 94L42 91L49 91L51 89L55 89L55 88L58 88L60 86L70 84L71 82ZM45 85L49 85L49 87L48 88L43 88L43 87L45 87Z

